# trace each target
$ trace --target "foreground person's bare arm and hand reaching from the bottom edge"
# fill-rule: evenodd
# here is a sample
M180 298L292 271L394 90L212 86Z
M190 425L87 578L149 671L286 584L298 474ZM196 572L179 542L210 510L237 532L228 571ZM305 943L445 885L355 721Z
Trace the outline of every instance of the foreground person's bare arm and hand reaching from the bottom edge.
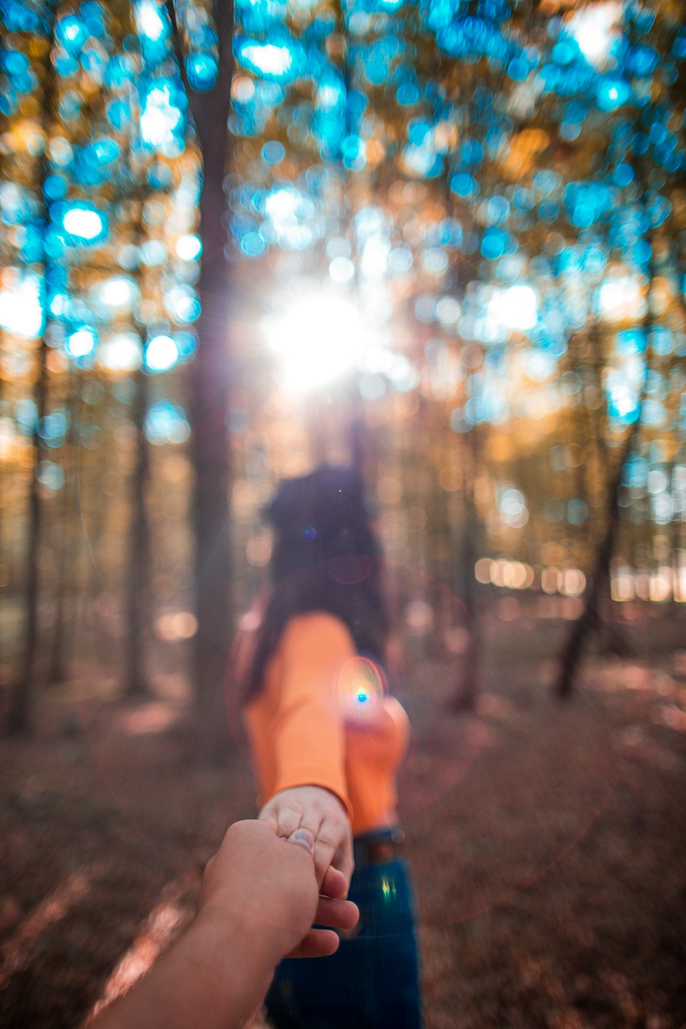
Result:
M236 822L209 862L194 921L152 970L91 1029L238 1029L259 1004L279 961L338 946L320 924L351 928L357 909L320 897L306 832L280 840L276 822ZM299 844L299 846L293 846ZM338 896L335 873L326 886Z

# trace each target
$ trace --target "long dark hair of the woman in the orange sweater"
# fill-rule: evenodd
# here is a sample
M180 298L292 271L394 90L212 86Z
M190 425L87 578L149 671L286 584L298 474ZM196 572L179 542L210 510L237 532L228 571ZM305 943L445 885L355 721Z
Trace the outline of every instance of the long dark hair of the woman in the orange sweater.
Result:
M383 665L388 618L382 552L356 472L323 465L302 478L286 480L267 514L276 530L275 586L257 630L246 699L261 689L287 623L308 611L340 618L358 652Z

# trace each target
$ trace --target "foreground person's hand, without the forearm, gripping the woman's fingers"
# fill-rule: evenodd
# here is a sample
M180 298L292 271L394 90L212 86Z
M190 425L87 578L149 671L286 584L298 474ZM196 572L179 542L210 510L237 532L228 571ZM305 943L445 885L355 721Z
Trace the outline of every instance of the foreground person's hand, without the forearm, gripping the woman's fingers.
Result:
M283 957L325 957L338 947L331 929L357 924L354 903L340 899L341 882L330 877L332 895L320 897L313 865L314 839L306 829L280 840L275 820L234 822L208 862L197 920L222 924L276 965Z

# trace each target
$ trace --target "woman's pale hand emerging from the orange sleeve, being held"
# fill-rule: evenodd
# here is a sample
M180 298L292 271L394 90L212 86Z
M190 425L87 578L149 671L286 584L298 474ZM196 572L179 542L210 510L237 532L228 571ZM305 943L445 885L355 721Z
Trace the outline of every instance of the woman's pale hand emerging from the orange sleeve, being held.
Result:
M320 892L334 897L348 894L354 867L353 837L346 807L335 793L322 786L282 789L267 801L259 818L274 820L277 835L286 839L295 829L309 829L315 840L315 875ZM335 872L342 874L342 890L334 885L339 882Z

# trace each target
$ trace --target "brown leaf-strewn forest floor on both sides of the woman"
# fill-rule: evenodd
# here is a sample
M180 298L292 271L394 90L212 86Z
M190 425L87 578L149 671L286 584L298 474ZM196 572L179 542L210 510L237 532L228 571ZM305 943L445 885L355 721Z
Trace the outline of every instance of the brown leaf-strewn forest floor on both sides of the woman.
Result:
M428 1029L686 1026L686 633L626 605L630 657L591 654L550 699L567 623L486 622L474 714L413 644L401 812ZM411 688L410 685L411 684ZM0 750L0 1025L74 1027L190 919L229 822L254 812L237 749L188 758L182 679L141 703L81 669ZM255 1025L261 1025L258 1021Z

